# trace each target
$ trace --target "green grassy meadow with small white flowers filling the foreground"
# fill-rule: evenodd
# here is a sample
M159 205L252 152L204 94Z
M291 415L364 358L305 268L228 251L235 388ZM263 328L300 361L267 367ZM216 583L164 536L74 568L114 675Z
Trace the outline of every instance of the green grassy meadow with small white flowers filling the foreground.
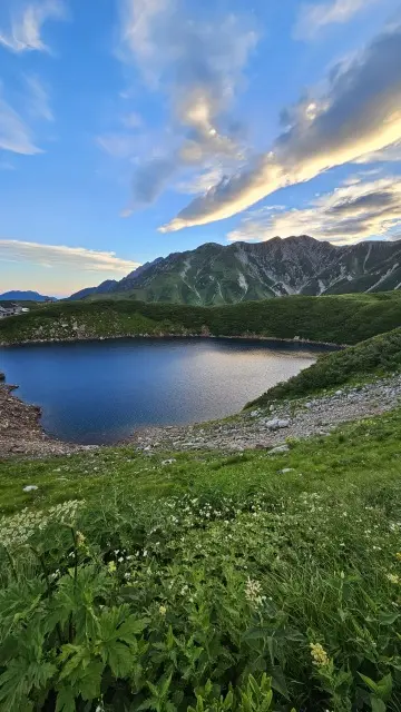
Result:
M400 428L3 462L0 710L399 712Z

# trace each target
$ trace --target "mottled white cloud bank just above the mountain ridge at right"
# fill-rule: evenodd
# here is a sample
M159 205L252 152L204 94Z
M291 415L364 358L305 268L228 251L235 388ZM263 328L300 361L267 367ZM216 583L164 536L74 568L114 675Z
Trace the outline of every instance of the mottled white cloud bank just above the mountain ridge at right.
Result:
M229 240L268 240L276 235L311 235L348 244L369 237L391 239L401 226L401 178L344 184L314 199L307 208L281 212L251 211Z

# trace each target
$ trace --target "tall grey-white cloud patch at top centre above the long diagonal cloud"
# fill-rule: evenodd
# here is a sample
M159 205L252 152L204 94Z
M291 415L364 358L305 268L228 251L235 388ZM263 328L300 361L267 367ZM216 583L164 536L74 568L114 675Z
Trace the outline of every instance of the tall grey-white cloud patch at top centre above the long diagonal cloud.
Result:
M118 56L134 63L147 87L169 105L168 141L139 162L131 209L146 205L146 196L155 199L188 166L206 168L212 157L227 166L243 159L227 112L256 33L248 18L216 12L206 21L200 11L195 20L187 6L184 0L120 1ZM141 189L144 175L158 191Z

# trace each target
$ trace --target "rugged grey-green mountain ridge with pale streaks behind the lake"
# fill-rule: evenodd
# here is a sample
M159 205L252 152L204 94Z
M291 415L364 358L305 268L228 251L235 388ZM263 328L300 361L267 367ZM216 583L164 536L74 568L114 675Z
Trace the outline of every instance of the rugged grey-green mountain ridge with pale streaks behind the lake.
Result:
M91 298L104 294L101 287L91 289ZM301 235L256 244L207 243L194 250L173 253L143 265L108 294L144 301L217 305L400 287L401 240L336 246Z

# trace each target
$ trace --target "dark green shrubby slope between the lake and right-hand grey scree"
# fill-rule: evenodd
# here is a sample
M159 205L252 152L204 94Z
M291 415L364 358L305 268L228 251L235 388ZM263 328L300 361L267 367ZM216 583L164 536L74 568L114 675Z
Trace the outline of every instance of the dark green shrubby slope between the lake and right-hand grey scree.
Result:
M324 354L315 364L270 388L247 407L281 398L299 398L325 388L384 376L401 367L401 328L374 336L341 352Z

